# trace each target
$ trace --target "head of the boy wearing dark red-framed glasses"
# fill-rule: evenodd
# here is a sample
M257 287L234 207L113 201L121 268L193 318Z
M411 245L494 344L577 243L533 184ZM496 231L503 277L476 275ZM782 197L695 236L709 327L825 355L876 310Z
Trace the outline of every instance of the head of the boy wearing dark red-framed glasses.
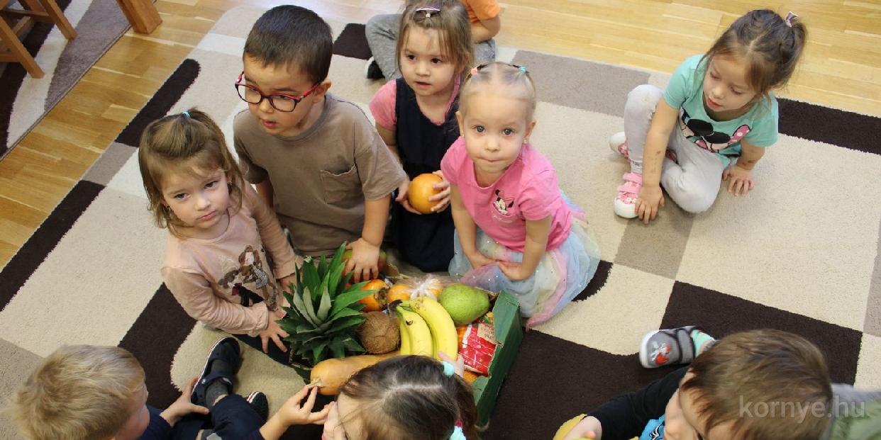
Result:
M244 70L236 84L248 110L272 135L291 135L321 114L333 37L330 26L313 11L276 6L257 19L242 56Z

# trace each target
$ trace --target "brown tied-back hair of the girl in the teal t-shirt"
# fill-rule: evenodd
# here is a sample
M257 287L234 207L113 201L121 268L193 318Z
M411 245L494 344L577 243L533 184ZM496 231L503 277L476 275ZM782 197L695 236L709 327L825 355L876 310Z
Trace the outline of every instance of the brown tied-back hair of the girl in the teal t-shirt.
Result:
M787 23L774 11L749 11L715 40L700 62L706 62L707 70L714 56L733 56L747 62L746 78L756 92L756 101L767 98L771 89L787 84L806 40L807 29L799 18L789 18Z

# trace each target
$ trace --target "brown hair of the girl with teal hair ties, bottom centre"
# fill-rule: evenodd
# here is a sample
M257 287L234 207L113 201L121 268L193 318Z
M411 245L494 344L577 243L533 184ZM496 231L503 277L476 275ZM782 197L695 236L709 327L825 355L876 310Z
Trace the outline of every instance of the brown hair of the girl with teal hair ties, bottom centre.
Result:
M340 388L359 402L346 417L363 422L366 440L447 440L455 422L478 439L470 385L427 356L396 356L360 370Z

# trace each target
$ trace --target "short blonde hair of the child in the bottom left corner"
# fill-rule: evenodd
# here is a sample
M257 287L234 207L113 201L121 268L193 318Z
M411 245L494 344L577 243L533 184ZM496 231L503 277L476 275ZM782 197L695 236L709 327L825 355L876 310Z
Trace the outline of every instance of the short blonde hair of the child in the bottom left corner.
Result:
M144 369L124 348L63 346L19 386L10 409L33 440L110 438L131 417L143 386Z

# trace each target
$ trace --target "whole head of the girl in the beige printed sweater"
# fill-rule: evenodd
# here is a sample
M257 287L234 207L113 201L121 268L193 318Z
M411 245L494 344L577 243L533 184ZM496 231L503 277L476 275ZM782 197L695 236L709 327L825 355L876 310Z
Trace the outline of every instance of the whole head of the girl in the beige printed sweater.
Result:
M144 128L137 160L156 224L175 235L224 226L226 209L241 206L239 165L217 124L195 108Z

